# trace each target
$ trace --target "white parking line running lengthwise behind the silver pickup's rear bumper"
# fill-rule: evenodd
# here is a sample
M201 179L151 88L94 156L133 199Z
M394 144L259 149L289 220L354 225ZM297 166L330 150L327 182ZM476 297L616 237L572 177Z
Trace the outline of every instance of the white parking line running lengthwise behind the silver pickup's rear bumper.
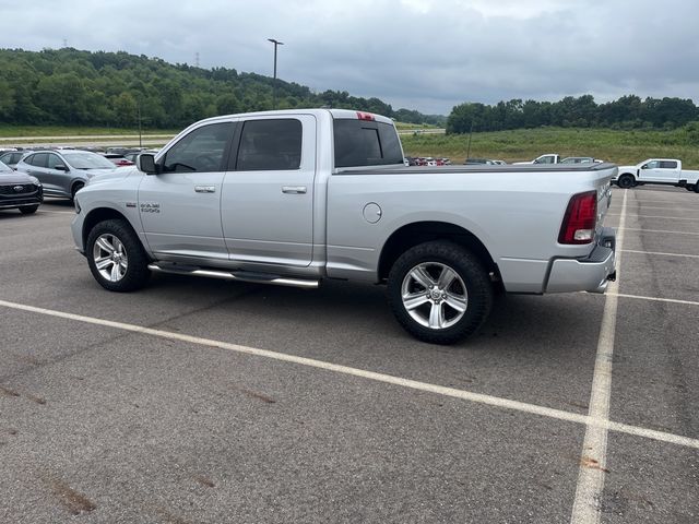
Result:
M624 247L624 225L626 224L626 200L624 193L621 202L621 217L619 218L618 236L616 239L616 270L621 269L621 252ZM618 278L609 283L604 301L602 326L597 341L597 356L592 377L592 392L588 416L595 420L609 419L609 400L612 397L612 356L614 355L614 337L616 334L616 312L618 306ZM611 293L609 293L611 291ZM596 524L602 517L599 508L600 496L604 489L607 461L607 428L589 425L580 454L578 485L576 500L570 515L571 524Z

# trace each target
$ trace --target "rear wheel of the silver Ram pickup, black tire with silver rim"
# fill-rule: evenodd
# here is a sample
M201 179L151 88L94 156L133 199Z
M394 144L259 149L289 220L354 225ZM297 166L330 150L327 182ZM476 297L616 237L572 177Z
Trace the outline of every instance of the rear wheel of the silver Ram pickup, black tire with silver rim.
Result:
M454 277L449 281L451 284L440 287L440 271L446 271L445 267L455 273L458 278ZM420 285L412 276L420 271L428 273L430 284L437 284L435 293L441 293L441 298L430 295L431 287ZM412 312L408 312L404 302L404 291L406 297L412 296L422 301L419 306L411 308ZM446 240L429 241L411 248L395 261L389 274L388 296L393 314L405 331L430 344L454 344L475 332L490 313L493 295L490 277L478 259L465 248ZM464 302L464 311L459 312L450 306L449 302L453 303L454 297L458 302ZM435 307L438 313L435 313ZM448 312L453 314L450 317ZM433 314L437 315L438 322L433 322ZM445 326L439 325L441 321ZM438 326L425 325L425 322Z

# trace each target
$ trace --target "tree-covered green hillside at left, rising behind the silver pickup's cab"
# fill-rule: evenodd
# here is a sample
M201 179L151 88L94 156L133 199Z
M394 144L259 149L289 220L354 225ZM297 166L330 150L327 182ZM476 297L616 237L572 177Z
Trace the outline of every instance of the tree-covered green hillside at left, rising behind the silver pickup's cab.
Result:
M443 116L393 108L347 92L313 93L277 79L277 108L333 107L410 123ZM216 115L272 109L273 79L235 69L170 64L127 52L0 49L0 121L11 124L180 128Z

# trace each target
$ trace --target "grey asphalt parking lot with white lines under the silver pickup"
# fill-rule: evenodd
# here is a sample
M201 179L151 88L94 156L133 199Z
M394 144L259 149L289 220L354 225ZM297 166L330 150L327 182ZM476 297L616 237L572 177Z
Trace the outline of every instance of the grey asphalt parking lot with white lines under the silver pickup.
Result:
M614 190L607 295L430 346L381 287L105 291L0 212L2 523L697 523L699 198Z

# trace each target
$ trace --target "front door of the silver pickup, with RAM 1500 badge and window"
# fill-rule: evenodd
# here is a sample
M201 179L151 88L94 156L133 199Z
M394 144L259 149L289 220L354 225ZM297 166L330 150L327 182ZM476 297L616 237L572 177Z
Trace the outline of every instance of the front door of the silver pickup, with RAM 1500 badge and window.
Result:
M157 159L157 175L139 186L141 224L151 250L192 257L193 263L227 261L221 227L221 189L234 122L194 129Z

